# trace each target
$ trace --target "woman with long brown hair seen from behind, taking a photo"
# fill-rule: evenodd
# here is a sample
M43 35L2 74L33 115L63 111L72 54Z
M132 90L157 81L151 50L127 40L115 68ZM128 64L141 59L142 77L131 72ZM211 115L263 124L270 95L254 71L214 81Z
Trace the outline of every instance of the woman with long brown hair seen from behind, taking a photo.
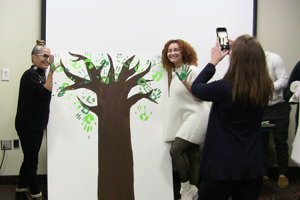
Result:
M273 83L265 53L255 37L230 40L230 62L224 78L207 83L229 51L219 40L212 58L192 84L191 92L212 102L200 162L203 177L198 200L258 199L264 175L261 123Z

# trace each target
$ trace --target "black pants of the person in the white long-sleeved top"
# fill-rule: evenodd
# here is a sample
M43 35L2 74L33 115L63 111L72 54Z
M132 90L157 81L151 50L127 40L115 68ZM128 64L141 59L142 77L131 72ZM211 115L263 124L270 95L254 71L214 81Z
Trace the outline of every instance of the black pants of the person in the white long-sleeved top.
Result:
M286 175L288 171L288 125L290 123L290 111L291 106L286 102L277 103L272 106L268 106L262 118L262 121L270 121L270 123L276 126L272 128L278 173ZM268 161L268 143L270 133L262 132L262 145L265 155L265 171L267 173L267 161Z

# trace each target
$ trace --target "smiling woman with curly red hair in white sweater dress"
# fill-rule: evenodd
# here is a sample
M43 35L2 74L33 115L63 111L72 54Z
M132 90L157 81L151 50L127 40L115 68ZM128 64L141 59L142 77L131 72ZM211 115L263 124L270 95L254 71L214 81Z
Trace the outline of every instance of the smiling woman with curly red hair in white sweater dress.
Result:
M162 51L163 68L168 71L169 102L166 141L173 141L172 161L181 181L181 200L196 200L199 184L200 149L207 128L210 103L191 93L200 73L197 54L181 39L169 40ZM188 163L183 156L186 153Z

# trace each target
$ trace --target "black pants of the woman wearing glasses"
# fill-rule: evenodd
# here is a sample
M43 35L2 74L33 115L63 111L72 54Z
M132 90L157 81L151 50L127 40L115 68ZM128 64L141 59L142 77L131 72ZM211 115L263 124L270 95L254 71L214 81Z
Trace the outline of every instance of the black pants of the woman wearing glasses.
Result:
M32 195L40 193L37 181L38 152L44 132L27 131L18 133L24 160L20 168L18 188L28 188Z

